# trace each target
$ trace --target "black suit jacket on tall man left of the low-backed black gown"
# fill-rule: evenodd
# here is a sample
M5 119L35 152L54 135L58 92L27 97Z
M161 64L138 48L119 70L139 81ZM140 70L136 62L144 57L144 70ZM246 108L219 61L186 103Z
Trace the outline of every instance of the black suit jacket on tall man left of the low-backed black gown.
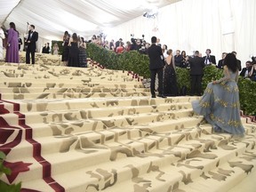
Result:
M152 44L148 48L148 57L150 70L164 67L164 55L160 46Z

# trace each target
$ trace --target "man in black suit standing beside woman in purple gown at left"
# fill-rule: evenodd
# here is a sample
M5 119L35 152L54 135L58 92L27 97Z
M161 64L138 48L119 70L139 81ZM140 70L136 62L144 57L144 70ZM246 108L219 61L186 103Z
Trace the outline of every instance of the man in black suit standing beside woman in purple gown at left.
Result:
M35 31L35 26L30 25L28 31L28 37L26 40L26 44L28 45L26 52L26 63L30 64L30 53L32 64L35 64L35 52L36 52L36 41L38 39L38 33Z

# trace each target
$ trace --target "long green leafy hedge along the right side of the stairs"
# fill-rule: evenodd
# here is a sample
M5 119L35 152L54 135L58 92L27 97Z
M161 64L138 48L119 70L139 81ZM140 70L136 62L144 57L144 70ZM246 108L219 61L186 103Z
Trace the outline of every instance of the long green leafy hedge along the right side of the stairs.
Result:
M148 55L140 54L137 51L116 54L116 52L108 51L96 44L87 44L87 54L89 58L99 62L105 68L133 71L144 78L150 76ZM222 73L222 69L215 66L204 68L203 89L209 82L220 79ZM177 68L177 82L179 89L186 87L187 94L190 93L190 76L187 68ZM245 115L255 116L256 83L239 77L238 87L241 109L244 110Z

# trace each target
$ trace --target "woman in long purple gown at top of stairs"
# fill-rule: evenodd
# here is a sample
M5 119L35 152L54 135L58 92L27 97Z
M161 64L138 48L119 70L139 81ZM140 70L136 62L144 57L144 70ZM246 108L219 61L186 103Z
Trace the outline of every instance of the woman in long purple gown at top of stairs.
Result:
M10 23L8 30L5 61L19 63L19 32L13 22Z

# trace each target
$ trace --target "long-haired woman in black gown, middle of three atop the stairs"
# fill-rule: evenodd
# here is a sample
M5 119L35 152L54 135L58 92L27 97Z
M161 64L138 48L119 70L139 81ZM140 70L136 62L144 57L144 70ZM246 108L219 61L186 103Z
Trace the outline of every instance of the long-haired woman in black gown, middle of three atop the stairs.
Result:
M79 48L76 33L69 39L68 48L68 67L79 67Z

